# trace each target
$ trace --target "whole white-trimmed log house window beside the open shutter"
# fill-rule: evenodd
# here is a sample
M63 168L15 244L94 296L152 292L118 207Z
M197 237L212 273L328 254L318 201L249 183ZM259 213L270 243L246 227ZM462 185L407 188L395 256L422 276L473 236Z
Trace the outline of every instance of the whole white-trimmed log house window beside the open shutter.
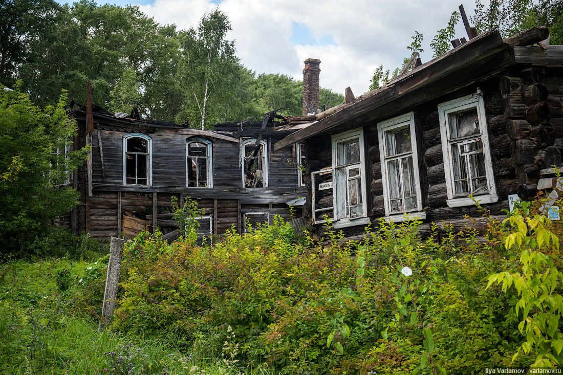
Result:
M334 217L352 220L367 216L363 130L332 136Z

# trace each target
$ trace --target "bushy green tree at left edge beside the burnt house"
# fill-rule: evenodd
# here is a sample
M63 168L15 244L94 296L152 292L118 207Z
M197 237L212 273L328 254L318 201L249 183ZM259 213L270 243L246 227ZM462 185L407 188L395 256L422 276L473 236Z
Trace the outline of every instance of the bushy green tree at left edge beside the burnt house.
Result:
M34 249L34 242L50 230L53 220L78 203L78 191L60 185L86 155L84 150L57 153L72 144L77 132L65 108L66 93L57 105L42 110L20 91L19 83L14 88L0 90L3 255Z

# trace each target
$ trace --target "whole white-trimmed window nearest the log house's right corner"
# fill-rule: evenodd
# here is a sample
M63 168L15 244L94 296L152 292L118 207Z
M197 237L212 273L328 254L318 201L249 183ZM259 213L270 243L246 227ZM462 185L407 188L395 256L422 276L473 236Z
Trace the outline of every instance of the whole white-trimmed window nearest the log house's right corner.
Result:
M497 202L485 104L480 90L438 105L448 206Z

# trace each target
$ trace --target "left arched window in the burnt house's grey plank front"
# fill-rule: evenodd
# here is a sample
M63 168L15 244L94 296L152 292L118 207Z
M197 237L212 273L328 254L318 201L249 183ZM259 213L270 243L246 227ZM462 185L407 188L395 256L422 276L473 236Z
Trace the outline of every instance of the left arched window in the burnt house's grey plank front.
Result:
M151 139L143 134L123 137L123 184L151 185Z

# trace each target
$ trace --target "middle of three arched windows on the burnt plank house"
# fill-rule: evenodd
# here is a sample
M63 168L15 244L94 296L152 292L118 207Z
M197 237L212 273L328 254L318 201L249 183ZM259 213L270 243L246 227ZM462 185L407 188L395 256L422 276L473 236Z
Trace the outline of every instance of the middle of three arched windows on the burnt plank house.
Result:
M208 140L186 141L186 186L213 187L212 147Z

